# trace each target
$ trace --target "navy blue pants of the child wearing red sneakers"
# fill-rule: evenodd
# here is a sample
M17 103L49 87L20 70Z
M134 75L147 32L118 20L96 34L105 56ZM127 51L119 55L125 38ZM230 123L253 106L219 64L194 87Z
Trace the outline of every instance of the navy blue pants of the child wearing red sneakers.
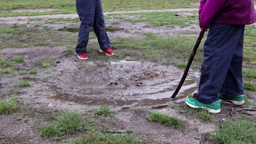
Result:
M109 48L110 41L105 31L101 0L77 0L76 7L81 23L75 52L78 55L87 53L87 44L91 28L94 28L100 48L102 50Z

